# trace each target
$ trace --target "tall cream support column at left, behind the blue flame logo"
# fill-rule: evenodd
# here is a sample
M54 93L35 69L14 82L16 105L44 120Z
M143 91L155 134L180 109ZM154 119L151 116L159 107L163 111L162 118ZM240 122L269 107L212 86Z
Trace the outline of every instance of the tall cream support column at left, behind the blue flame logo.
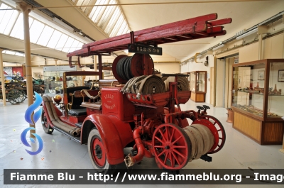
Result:
M26 87L28 95L28 106L33 104L33 77L31 73L31 42L30 42L30 26L28 23L28 13L31 12L32 6L26 4L25 2L17 3L17 9L23 12L23 42L25 45L25 63L26 63ZM35 128L35 125L30 124L30 127ZM35 130L30 131L30 137L34 138L32 133Z

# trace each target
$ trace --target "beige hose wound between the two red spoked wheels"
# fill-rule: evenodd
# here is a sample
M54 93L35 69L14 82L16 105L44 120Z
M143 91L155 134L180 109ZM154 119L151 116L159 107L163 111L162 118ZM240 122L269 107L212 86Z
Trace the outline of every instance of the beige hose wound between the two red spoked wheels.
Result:
M209 128L200 124L193 124L183 128L190 138L192 145L190 161L199 159L209 152L214 145L214 136Z

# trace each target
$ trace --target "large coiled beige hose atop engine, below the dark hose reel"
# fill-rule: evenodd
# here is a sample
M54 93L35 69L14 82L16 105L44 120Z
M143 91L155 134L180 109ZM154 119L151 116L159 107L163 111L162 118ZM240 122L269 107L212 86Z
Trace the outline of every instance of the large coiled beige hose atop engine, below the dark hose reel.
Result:
M137 99L141 94L159 94L165 92L165 83L156 75L133 77L129 79L121 92L135 93Z

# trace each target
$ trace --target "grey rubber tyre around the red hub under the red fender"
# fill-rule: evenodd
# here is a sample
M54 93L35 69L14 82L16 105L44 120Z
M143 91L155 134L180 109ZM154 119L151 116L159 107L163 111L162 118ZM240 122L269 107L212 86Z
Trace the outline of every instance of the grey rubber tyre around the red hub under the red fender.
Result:
M97 128L93 128L89 132L88 146L87 146L88 147L88 153L89 153L89 159L91 160L92 165L97 172L102 173L104 175L111 175L116 170L116 165L110 165L109 162L107 162L107 156L105 156L106 161L104 163L104 167L99 167L97 165L97 162L95 162L93 157L92 157L92 139L94 139L94 138L99 138L99 140L102 142L102 137L100 136ZM104 143L102 143L102 145L104 146ZM105 147L104 147L104 150L106 150Z

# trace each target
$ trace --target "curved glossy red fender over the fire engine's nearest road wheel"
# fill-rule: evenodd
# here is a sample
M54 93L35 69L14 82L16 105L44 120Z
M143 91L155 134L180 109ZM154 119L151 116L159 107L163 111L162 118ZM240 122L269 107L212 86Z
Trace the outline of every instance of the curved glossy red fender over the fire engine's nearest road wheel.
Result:
M89 134L90 122L92 122L99 131L102 143L106 149L107 161L109 164L117 165L124 162L124 147L127 144L126 142L131 141L131 139L133 140L133 134L129 124L121 121L114 121L109 118L109 116L103 114L92 114L87 116L82 124L83 134ZM87 133L87 131L84 130L89 131ZM86 138L86 136L87 135L83 135L84 138Z

